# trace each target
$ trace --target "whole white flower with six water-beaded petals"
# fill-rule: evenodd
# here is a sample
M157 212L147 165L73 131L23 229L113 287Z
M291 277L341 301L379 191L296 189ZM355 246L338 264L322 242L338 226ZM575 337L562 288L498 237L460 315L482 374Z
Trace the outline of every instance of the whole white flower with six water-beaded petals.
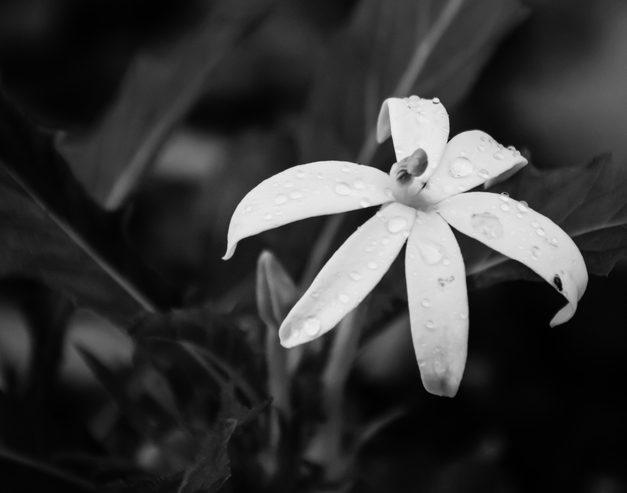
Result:
M567 299L551 326L574 314L587 284L571 238L507 196L466 190L512 174L527 160L490 135L448 139L440 101L416 96L383 103L377 140L392 135L399 162L390 174L349 162L296 166L256 186L236 208L230 258L239 240L311 216L382 205L322 268L280 327L285 347L332 329L374 288L407 242L411 335L426 390L455 395L466 363L468 298L460 248L449 225L530 267ZM448 223L448 224L447 224Z

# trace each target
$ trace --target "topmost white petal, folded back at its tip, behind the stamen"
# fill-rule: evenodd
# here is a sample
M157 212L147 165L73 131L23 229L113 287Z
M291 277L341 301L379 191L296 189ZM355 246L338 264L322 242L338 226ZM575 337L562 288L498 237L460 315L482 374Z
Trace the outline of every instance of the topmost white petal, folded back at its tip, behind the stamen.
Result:
M448 140L448 114L436 99L389 98L383 102L377 121L377 140L382 142L392 135L396 160L411 156L423 149L429 164L417 179L424 183L444 152Z

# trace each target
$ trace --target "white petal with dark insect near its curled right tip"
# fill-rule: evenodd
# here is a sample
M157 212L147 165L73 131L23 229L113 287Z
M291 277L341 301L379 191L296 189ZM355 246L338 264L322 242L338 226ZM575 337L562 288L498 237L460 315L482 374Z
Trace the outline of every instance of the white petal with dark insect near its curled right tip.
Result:
M566 297L569 303L551 327L571 319L586 290L586 265L553 221L505 195L485 192L456 195L435 208L453 228L524 263Z

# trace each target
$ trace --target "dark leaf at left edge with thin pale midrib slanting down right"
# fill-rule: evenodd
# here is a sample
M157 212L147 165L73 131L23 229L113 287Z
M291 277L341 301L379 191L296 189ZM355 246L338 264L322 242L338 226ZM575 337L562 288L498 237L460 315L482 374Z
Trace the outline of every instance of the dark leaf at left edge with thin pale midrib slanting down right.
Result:
M35 129L0 95L0 276L42 280L128 327L152 303L117 268L163 302L162 282L125 243L119 218L86 195Z

